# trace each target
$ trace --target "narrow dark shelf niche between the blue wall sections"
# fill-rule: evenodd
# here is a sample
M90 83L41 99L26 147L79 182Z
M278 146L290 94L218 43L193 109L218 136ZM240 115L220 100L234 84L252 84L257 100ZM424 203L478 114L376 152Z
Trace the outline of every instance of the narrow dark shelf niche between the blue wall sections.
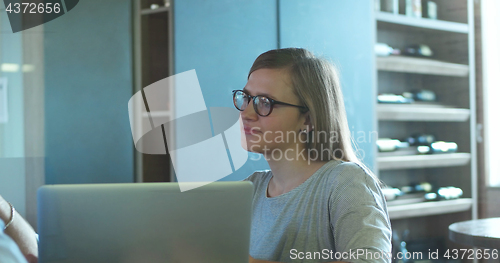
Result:
M134 93L148 85L173 75L173 19L170 1L134 0ZM158 5L152 9L152 5ZM168 94L167 94L168 93ZM143 93L144 95L144 93ZM164 97L147 97L146 103L157 100L159 109L136 107L135 118L139 119L137 129L151 127L155 122L166 123L173 119L174 94L172 90ZM168 126L167 126L168 127ZM164 127L163 127L164 128ZM173 132L169 132L174 136ZM158 142L163 144L163 141ZM136 182L169 182L174 172L168 155L135 155Z

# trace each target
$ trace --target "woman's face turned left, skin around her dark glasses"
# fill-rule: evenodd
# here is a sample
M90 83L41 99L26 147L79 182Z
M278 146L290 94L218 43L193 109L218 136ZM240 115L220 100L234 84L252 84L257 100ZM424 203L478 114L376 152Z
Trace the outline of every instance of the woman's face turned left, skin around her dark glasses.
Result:
M250 75L243 89L251 96L262 95L271 99L293 105L301 105L293 93L292 82L283 69L258 69ZM299 130L305 128L306 114L299 108L275 104L270 115L258 115L250 101L244 111L240 112L242 146L256 153L272 153L273 156L284 157L287 149L303 147L299 140ZM272 152L275 151L275 152Z

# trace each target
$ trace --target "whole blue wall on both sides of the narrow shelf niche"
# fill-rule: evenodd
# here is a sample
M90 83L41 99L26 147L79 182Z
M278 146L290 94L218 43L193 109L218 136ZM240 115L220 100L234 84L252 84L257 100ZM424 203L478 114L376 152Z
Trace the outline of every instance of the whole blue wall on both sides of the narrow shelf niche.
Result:
M175 1L174 73L196 69L206 106L232 107L231 90L245 85L259 54L305 47L340 65L351 129L374 131L375 26L368 2L279 1L278 18L278 0ZM45 25L49 184L133 181L131 8L130 0L80 1ZM375 143L359 145L373 167ZM249 161L224 180L266 168L263 159Z

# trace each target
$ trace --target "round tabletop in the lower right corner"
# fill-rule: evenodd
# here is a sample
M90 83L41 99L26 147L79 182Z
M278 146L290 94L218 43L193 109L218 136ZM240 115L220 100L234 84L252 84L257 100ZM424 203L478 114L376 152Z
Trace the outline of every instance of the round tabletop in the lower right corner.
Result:
M500 248L500 217L458 222L448 229L450 239L457 243Z

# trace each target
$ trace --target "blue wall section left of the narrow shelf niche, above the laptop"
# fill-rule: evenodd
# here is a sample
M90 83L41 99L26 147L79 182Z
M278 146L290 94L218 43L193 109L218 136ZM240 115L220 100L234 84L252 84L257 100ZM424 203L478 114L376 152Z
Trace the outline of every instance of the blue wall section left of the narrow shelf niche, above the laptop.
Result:
M46 183L133 181L130 0L86 0L45 24Z

